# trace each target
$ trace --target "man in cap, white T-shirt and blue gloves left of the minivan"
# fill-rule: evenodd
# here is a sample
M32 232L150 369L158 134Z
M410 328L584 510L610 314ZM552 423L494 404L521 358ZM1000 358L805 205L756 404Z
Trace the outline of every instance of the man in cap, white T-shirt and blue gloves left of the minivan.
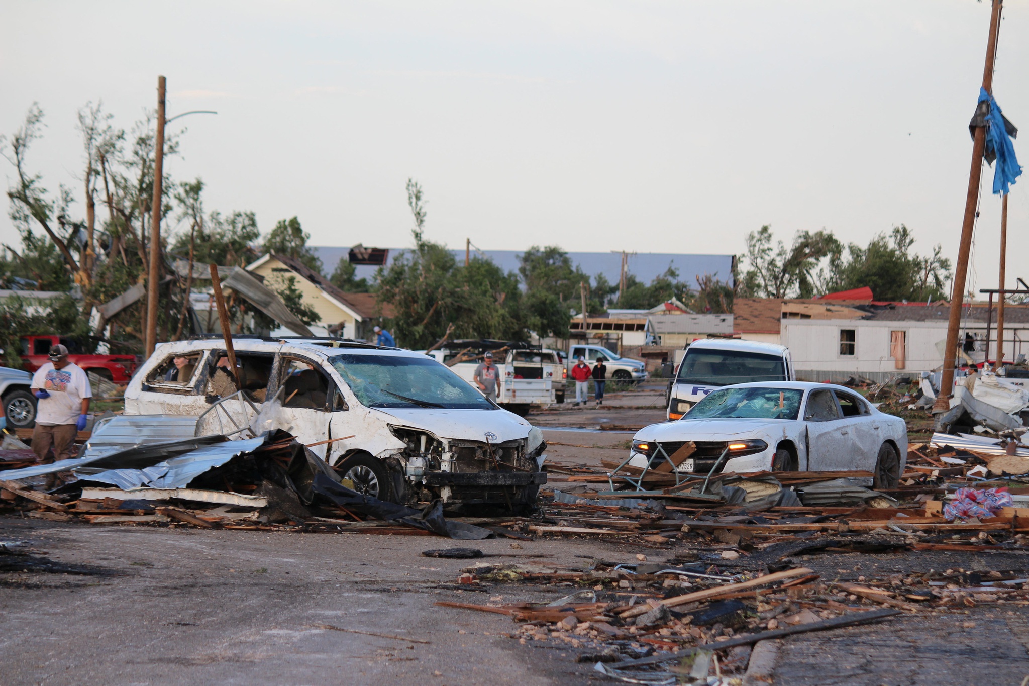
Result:
M54 460L68 460L75 446L75 435L85 429L93 389L85 372L68 361L68 349L50 347L49 362L32 375L32 392L36 403L36 428L32 432L32 452L36 461L46 458L54 446ZM51 484L49 484L51 485Z

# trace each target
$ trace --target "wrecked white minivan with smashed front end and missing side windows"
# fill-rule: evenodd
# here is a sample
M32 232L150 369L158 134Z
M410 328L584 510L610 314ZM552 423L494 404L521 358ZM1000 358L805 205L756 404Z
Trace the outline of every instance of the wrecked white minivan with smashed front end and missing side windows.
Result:
M541 432L425 355L256 336L233 347L235 377L220 338L158 345L126 414L196 417L196 435L285 429L357 491L397 503L519 510L546 482Z

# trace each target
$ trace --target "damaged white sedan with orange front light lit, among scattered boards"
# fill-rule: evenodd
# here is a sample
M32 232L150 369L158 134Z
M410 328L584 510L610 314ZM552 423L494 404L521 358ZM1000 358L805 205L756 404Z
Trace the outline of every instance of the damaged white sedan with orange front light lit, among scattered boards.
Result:
M688 441L696 449L676 455ZM629 465L676 471L849 471L896 488L908 459L904 421L843 386L805 382L740 384L713 391L682 419L633 437ZM667 468L666 468L667 469Z

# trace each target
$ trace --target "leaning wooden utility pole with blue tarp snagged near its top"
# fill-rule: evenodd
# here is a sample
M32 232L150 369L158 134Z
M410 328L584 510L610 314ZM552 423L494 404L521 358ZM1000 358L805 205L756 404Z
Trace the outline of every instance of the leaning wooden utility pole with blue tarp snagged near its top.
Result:
M986 43L986 65L983 68L983 88L993 93L993 63L997 55L997 30L1000 26L1000 9L1003 0L993 0L990 14L990 37ZM982 105L981 105L982 106ZM977 109L977 114L979 110ZM954 283L951 284L951 312L947 322L947 347L944 349L944 370L939 382L939 395L933 404L933 411L946 411L950 406L951 389L954 386L954 363L957 358L958 329L961 326L961 305L964 303L965 278L968 274L968 254L971 251L971 234L975 225L975 206L979 201L979 181L983 171L983 152L986 149L986 127L975 127L971 146L971 170L968 173L968 194L965 196L964 222L961 225L961 245L958 261L954 268ZM989 352L988 352L989 354Z

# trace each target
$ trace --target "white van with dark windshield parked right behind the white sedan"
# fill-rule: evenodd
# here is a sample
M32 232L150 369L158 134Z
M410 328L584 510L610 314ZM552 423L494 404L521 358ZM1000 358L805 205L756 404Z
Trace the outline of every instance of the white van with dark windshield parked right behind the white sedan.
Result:
M679 419L722 386L794 381L793 359L784 346L726 338L695 340L670 384L667 417Z

